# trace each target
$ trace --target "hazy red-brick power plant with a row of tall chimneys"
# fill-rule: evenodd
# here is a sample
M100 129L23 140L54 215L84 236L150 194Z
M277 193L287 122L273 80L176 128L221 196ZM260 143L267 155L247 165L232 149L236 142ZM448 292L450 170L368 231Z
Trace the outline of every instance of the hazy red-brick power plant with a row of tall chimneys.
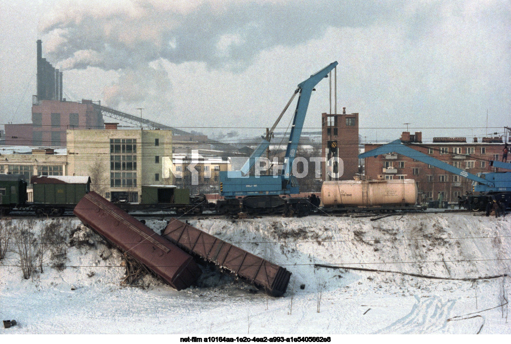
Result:
M42 42L38 40L37 95L32 97L32 123L6 124L5 144L65 147L67 129L103 127L103 116L92 106L92 101L69 102L62 98L62 72L42 58Z

